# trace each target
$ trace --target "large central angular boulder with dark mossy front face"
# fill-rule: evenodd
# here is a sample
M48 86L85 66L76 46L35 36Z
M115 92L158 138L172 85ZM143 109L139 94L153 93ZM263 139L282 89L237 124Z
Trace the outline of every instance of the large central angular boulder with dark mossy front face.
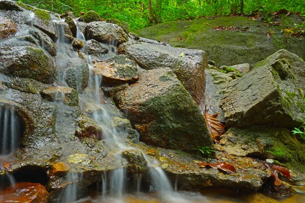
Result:
M214 149L198 106L170 69L142 73L136 84L116 93L114 99L141 141L184 151L199 143Z

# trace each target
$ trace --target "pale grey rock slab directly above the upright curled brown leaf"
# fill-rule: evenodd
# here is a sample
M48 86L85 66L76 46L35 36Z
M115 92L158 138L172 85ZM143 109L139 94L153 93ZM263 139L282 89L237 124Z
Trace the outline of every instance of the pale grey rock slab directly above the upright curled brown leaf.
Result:
M224 122L224 113L219 107L220 101L223 97L223 90L227 87L229 82L233 80L228 74L219 72L217 70L204 70L205 73L205 105L208 113L214 115L219 113L217 119Z

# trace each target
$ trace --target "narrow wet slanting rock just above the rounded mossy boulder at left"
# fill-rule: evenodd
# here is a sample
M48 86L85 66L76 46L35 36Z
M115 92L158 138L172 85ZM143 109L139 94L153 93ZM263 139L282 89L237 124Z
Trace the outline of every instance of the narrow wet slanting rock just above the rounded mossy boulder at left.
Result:
M46 33L40 31L39 29L32 28L28 29L28 33L30 33L36 39L36 41L38 41L38 44L43 49L47 50L51 56L56 55L56 45L53 40L51 40L51 38L46 35Z

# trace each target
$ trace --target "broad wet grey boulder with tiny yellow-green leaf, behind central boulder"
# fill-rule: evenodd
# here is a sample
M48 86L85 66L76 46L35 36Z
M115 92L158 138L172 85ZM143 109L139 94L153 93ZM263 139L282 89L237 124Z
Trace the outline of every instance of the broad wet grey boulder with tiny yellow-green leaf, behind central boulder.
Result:
M201 103L205 90L204 69L208 67L204 51L174 48L146 40L127 46L121 54L130 56L145 70L169 67L196 103Z

